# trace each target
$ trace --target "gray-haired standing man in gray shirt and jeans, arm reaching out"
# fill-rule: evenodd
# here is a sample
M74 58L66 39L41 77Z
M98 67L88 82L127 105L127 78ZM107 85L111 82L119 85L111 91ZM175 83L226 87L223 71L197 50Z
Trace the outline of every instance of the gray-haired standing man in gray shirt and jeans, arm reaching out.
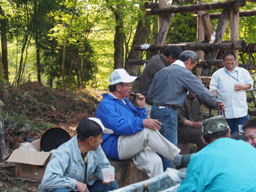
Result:
M162 123L160 133L173 145L177 145L177 107L181 107L187 97L187 91L199 96L202 101L215 109L225 105L204 87L191 72L199 59L195 51L183 51L179 59L171 66L161 69L155 74L149 97L153 99L151 119L158 119ZM162 157L163 169L171 167L172 163Z

